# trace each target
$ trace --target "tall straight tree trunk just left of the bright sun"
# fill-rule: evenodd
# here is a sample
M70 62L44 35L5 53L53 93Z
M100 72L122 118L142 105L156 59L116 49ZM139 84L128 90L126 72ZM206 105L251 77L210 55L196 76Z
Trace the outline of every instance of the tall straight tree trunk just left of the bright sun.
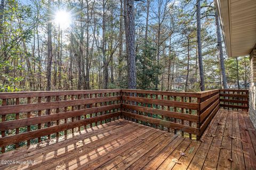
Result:
M51 22L51 0L48 0L47 7L47 69L46 79L47 86L46 90L51 90L51 73L52 73L52 22Z

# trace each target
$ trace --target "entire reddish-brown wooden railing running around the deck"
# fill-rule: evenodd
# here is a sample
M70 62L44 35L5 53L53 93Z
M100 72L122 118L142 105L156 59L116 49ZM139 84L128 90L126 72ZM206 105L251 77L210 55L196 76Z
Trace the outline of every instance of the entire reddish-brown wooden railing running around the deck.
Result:
M219 89L4 92L0 147L5 152L29 146L119 117L199 140L220 107L248 109L247 96L245 90Z

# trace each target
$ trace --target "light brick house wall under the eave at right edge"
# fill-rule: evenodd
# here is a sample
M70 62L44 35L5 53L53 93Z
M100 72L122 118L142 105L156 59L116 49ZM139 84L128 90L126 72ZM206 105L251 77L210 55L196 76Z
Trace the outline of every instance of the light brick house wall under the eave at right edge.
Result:
M256 49L250 54L249 117L256 129Z

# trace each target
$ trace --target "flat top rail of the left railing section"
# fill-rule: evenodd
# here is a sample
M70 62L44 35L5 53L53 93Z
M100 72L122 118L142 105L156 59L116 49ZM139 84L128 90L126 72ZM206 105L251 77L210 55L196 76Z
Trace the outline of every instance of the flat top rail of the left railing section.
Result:
M121 92L121 89L0 92L1 99Z

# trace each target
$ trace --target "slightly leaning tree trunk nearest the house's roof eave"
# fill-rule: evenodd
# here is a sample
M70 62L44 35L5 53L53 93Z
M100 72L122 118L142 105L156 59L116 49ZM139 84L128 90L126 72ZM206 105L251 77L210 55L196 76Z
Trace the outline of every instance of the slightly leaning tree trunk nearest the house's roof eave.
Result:
M219 16L218 16L217 9L215 10L215 25L216 25L216 35L217 35L217 48L218 48L218 54L220 58L222 84L223 84L223 88L227 89L227 77L226 77L225 61L223 57L222 41L221 41L221 34L220 34L220 23L219 23Z

